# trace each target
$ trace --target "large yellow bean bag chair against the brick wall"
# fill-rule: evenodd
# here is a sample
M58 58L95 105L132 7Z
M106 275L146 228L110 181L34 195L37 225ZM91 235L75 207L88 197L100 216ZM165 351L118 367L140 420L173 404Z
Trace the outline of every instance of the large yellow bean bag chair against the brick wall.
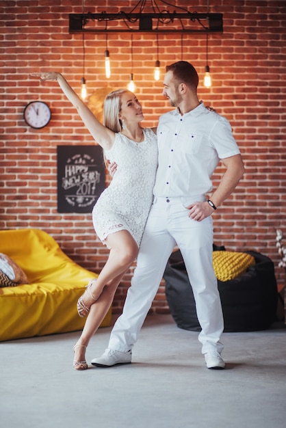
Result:
M86 319L77 314L77 299L95 273L73 262L38 229L0 230L0 253L0 341L83 328ZM20 272L14 269L14 283L4 269L9 258ZM29 284L18 285L25 275ZM110 325L111 317L109 308L101 327Z

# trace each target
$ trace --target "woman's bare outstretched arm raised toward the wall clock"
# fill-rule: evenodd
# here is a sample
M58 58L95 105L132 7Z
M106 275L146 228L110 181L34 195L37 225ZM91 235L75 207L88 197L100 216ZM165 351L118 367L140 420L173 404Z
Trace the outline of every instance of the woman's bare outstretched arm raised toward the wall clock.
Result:
M62 92L66 95L66 98L68 98L70 103L77 109L81 120L86 125L95 141L105 150L109 150L112 147L115 139L114 132L106 128L96 119L86 103L79 98L60 72L34 72L31 73L31 76L40 77L40 81L56 80Z

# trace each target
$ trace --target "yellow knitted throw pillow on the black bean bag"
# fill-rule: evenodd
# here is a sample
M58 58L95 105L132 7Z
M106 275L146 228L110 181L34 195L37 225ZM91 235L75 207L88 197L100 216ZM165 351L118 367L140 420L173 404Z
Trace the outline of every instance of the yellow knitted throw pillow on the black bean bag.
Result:
M214 251L213 269L220 281L233 280L255 265L255 258L250 254L232 251Z

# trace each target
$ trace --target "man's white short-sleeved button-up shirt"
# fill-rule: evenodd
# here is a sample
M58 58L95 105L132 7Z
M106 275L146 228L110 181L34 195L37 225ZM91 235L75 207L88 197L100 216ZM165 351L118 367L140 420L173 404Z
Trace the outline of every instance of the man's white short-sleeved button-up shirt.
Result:
M231 125L203 103L181 116L165 113L157 127L159 164L154 195L181 198L187 206L205 200L220 159L239 154Z

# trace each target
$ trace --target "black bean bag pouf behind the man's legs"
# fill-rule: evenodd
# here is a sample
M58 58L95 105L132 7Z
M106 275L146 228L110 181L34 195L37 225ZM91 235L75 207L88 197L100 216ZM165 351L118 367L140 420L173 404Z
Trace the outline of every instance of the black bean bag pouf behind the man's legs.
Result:
M255 258L254 266L233 280L218 280L224 332L265 330L276 318L278 292L274 263L258 252L246 253ZM192 286L179 250L170 256L164 280L167 302L177 326L184 330L200 331Z

